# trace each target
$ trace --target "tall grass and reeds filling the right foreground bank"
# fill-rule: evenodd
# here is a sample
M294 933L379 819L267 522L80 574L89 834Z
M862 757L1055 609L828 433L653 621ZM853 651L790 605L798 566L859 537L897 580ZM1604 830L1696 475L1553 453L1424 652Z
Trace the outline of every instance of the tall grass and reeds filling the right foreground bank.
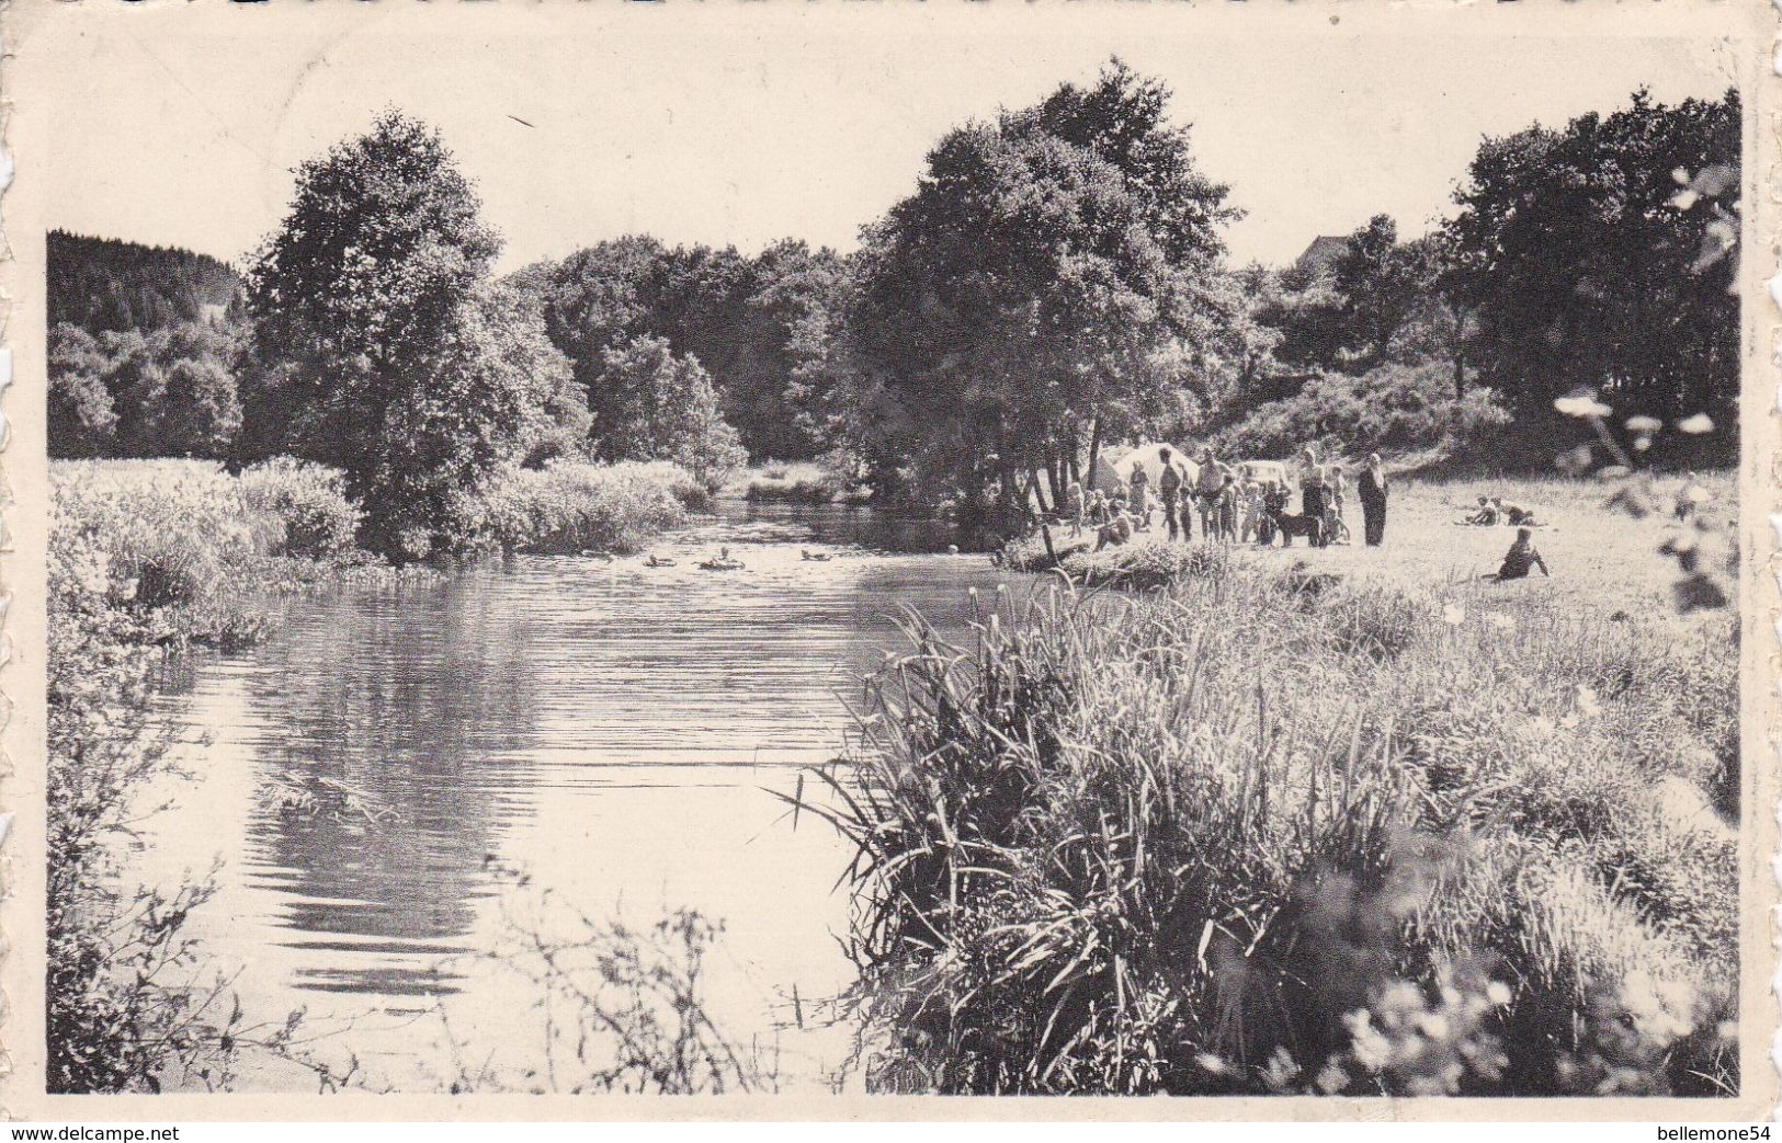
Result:
M909 636L830 778L877 1088L1736 1090L1725 643L1244 566Z

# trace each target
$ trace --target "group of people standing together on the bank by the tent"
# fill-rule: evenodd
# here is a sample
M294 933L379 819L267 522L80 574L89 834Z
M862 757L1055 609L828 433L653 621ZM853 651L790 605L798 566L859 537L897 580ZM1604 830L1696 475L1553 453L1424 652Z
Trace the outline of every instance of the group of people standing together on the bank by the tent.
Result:
M1208 539L1269 545L1287 531L1288 536L1304 534L1315 547L1351 543L1344 520L1349 481L1342 465L1320 463L1313 445L1306 445L1301 456L1299 515L1288 513L1292 491L1283 477L1228 465L1212 449L1201 450L1192 482L1187 466L1167 447L1158 449L1158 459L1155 507L1162 509L1169 539L1192 539L1192 520L1199 516L1201 536ZM1377 454L1367 458L1356 479L1356 493L1365 539L1370 547L1379 547L1386 534L1386 470ZM1094 529L1096 550L1126 543L1133 534L1151 529L1151 474L1144 463L1135 461L1124 488L1085 493L1080 481L1071 481L1066 490L1066 516L1073 536ZM1308 525L1308 520L1315 523Z

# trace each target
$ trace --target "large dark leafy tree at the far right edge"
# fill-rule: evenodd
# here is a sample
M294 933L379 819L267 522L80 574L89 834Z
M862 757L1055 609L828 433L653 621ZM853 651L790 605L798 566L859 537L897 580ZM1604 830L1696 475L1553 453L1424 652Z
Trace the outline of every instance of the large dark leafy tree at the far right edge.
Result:
M1739 146L1737 91L1673 107L1638 91L1565 130L1486 139L1449 226L1481 379L1522 417L1590 388L1625 413L1730 429L1739 303L1716 255L1736 231Z

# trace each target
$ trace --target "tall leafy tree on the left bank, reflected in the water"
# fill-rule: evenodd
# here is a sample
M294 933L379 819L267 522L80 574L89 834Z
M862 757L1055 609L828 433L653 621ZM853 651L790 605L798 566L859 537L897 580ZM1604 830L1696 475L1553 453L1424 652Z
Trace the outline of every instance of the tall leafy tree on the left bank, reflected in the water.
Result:
M249 272L258 443L342 468L387 554L462 539L526 445L540 344L481 290L497 251L438 132L390 110L298 169Z

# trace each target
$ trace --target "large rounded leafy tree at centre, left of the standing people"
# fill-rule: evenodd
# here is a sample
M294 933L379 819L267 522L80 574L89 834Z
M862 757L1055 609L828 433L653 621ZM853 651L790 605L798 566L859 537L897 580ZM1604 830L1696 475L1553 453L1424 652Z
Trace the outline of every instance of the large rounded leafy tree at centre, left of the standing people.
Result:
M854 434L880 488L982 502L1180 420L1215 320L1224 187L1167 91L1117 61L950 132L868 228L848 312ZM1023 484L1025 477L1025 484Z

